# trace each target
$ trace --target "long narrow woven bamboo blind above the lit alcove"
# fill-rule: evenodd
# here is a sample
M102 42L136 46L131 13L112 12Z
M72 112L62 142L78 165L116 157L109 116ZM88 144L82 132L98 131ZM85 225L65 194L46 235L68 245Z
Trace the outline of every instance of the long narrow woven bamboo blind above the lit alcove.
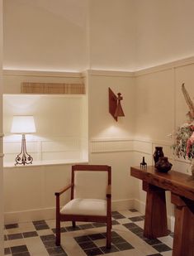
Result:
M22 94L85 94L83 84L21 83Z

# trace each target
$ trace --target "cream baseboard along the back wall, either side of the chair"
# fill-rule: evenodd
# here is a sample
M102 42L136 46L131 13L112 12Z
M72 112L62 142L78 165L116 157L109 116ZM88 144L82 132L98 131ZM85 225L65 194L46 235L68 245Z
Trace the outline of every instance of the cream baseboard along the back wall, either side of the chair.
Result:
M112 200L112 210L129 210L134 208L133 199ZM55 207L5 212L5 224L21 223L33 220L50 220L55 218Z

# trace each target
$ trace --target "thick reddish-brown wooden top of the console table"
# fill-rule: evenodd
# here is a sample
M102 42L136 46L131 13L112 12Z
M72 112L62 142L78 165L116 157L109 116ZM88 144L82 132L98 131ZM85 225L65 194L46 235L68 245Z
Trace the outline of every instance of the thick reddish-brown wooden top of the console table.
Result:
M153 166L147 168L130 167L130 175L154 186L194 200L194 177L178 171L163 173Z

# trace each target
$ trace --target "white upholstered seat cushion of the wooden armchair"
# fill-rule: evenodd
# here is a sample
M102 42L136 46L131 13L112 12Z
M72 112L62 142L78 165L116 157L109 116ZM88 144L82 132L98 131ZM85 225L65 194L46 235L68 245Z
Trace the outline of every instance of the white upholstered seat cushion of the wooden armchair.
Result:
M60 214L106 216L106 205L106 200L102 199L76 198L64 205L60 210Z

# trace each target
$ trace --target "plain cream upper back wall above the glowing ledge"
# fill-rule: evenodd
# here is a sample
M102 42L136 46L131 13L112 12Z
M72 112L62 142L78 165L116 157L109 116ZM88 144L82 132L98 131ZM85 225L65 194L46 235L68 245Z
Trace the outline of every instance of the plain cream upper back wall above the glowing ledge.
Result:
M4 69L134 69L134 0L6 0L3 5Z

